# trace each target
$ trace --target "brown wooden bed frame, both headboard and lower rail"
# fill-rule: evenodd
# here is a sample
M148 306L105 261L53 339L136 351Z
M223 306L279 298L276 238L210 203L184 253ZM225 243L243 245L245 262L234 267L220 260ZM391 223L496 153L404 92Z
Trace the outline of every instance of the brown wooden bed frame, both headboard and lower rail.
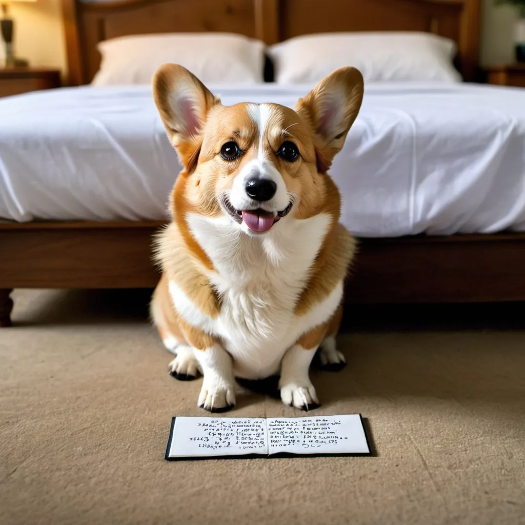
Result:
M474 79L480 0L62 0L69 83L89 83L107 38L167 31L229 31L267 44L308 33L419 30L453 38ZM0 224L0 325L13 288L154 287L151 236L161 222ZM351 303L525 300L525 235L362 239Z

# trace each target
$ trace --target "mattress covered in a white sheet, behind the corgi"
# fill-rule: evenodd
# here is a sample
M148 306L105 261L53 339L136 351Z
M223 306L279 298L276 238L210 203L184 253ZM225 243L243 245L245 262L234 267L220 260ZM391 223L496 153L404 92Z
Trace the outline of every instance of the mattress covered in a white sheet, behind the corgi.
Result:
M310 87L211 86L287 106ZM179 171L149 87L0 99L1 218L165 218ZM525 230L525 89L369 85L330 173L359 236Z

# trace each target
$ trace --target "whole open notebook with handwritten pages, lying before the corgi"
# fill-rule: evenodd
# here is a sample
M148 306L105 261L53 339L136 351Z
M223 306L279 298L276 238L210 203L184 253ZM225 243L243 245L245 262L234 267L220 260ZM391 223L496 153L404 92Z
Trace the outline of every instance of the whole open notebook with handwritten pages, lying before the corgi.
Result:
M174 417L165 459L369 455L359 414Z

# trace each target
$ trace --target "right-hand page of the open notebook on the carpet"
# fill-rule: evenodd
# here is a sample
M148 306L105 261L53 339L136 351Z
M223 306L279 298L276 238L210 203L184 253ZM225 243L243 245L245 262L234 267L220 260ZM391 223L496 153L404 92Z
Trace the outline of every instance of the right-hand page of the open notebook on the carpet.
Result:
M359 414L272 417L266 420L269 454L369 454Z

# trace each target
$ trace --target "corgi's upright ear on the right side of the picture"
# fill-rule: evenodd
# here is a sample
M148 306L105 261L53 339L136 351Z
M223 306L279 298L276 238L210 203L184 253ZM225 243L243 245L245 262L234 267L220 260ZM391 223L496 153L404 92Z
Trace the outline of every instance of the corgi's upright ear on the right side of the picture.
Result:
M358 116L363 100L363 76L358 69L342 67L323 78L295 110L312 127L319 171L326 171L343 147L346 134Z

